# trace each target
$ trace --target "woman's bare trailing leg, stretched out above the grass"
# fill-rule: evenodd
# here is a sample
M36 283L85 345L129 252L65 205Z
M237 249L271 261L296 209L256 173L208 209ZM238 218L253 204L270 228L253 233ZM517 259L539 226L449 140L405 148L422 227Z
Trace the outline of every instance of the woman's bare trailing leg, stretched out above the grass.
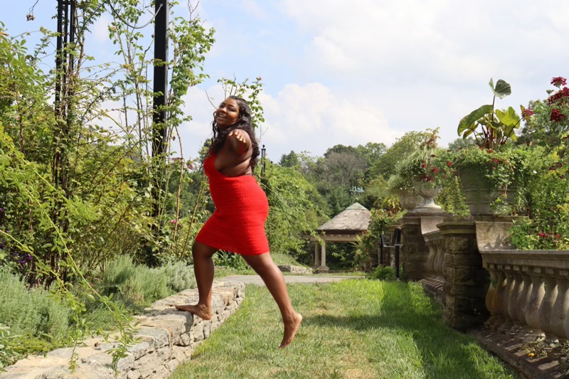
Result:
M282 272L268 252L261 255L242 255L242 257L259 274L272 297L277 301L282 322L285 324L285 333L279 347L284 348L292 342L302 322L302 315L294 311L290 303L285 277L282 276Z

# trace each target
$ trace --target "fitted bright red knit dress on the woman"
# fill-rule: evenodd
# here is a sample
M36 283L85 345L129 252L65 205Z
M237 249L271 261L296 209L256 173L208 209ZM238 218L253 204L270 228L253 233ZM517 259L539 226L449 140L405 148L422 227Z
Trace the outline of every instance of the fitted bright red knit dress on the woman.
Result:
M252 175L225 176L217 171L211 154L203 161L216 210L201 228L196 241L241 255L269 252L265 220L269 202Z

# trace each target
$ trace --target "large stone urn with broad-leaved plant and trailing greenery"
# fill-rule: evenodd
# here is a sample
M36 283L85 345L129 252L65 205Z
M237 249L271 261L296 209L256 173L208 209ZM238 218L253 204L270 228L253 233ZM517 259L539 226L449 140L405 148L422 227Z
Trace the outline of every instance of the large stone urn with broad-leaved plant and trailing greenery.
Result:
M495 107L496 97L510 95L511 86L504 80L494 85L492 79L489 85L494 94L492 103L467 114L457 129L464 139L474 137L474 144L456 151L453 159L471 215L509 213L531 166L530 149L509 143L516 142L521 117L512 107ZM526 114L523 107L521 111Z

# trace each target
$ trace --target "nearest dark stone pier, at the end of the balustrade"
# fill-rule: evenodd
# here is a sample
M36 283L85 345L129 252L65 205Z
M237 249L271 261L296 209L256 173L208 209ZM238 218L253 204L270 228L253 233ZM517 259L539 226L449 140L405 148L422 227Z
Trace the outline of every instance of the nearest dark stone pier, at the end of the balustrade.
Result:
M445 309L443 318L454 329L467 330L488 318L489 273L482 267L476 225L469 217L445 217L438 225L444 235Z

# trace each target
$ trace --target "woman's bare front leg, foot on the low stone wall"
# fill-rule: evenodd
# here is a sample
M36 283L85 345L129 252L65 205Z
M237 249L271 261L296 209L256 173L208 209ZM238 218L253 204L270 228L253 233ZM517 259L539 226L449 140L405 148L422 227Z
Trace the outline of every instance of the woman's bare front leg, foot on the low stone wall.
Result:
M176 305L176 309L195 314L204 320L211 319L211 286L213 284L213 260L211 257L217 251L213 247L193 242L193 272L196 274L198 294L200 299L196 305Z

